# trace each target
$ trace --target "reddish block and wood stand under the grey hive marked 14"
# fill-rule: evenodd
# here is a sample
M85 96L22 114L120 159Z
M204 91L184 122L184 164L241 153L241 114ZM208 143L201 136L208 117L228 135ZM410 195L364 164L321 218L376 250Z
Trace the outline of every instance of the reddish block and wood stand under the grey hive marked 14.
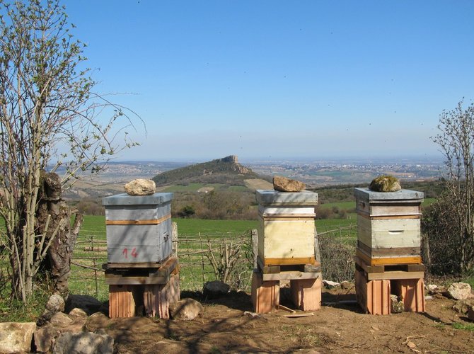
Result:
M176 257L163 263L106 263L103 268L112 319L143 314L141 308L146 316L168 319L168 305L180 299Z

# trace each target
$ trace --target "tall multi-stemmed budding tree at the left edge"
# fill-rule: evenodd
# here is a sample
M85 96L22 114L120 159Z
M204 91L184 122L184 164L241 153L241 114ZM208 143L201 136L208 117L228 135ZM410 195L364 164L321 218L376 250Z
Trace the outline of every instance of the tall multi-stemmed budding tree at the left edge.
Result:
M12 295L26 301L60 225L69 223L48 214L39 223L42 171L62 166L65 183L100 171L135 143L126 132L130 111L93 92L85 45L71 35L59 0L0 0L0 13L0 241Z

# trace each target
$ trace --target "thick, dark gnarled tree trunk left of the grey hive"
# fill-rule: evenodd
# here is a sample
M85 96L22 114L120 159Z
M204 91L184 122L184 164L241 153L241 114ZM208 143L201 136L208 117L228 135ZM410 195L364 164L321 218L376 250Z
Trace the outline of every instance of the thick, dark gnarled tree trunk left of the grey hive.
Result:
M71 212L61 198L61 182L56 173L43 173L42 182L37 208L38 231L40 234L46 234L48 242L52 239L50 248L47 250L45 268L51 272L53 291L67 298L71 256L83 217L79 213L76 214L71 227Z

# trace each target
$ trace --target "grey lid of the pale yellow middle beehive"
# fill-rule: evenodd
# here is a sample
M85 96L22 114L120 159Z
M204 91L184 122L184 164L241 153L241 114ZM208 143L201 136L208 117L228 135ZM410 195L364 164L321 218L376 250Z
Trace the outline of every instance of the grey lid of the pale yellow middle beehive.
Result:
M255 190L255 199L262 205L316 205L318 193L309 190L278 192L272 189L258 189Z

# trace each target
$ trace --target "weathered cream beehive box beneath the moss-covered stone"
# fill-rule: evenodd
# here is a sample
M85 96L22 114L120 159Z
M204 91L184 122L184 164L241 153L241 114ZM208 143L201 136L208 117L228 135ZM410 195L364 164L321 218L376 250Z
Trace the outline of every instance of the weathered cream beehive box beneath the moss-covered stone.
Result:
M354 188L357 256L369 265L421 263L420 218L423 193L374 192Z

